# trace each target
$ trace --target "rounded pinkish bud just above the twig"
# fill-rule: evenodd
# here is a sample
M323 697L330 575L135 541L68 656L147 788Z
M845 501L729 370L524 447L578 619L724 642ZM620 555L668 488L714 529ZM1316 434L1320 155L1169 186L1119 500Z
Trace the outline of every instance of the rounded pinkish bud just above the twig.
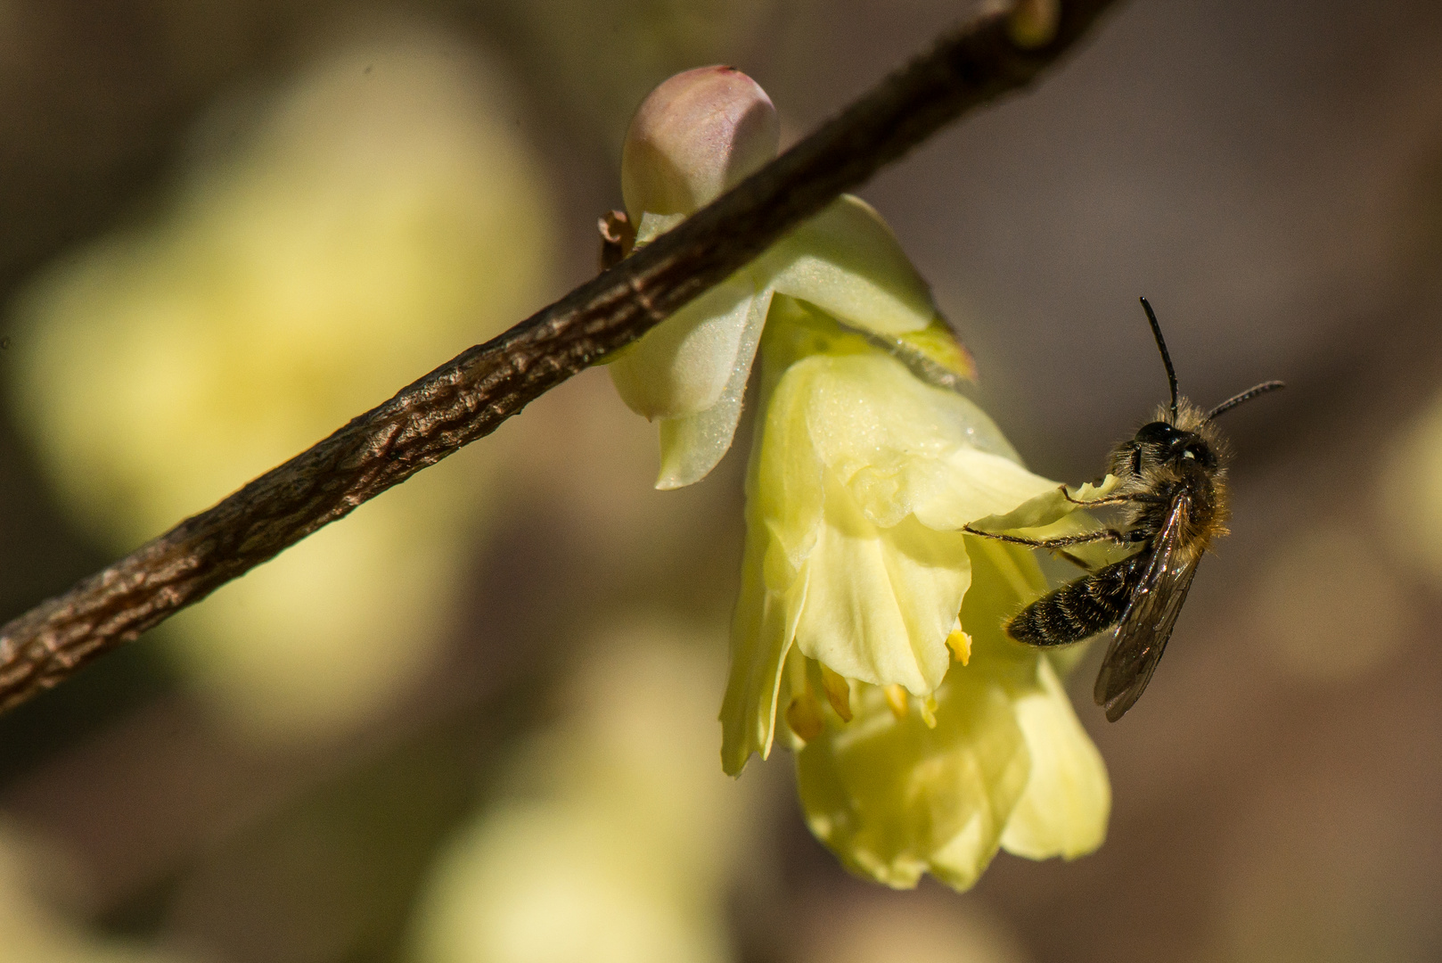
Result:
M733 66L676 74L642 101L622 149L622 193L642 214L692 214L776 156L766 91Z

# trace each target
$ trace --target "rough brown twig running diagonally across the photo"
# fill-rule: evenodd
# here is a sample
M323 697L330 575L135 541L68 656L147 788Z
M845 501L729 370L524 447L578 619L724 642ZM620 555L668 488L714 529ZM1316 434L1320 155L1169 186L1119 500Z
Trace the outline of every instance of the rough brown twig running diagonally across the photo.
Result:
M0 629L0 709L55 686L368 498L489 435L947 121L1028 85L1109 3L1027 0L1015 19L994 14L943 38L633 257L10 621Z

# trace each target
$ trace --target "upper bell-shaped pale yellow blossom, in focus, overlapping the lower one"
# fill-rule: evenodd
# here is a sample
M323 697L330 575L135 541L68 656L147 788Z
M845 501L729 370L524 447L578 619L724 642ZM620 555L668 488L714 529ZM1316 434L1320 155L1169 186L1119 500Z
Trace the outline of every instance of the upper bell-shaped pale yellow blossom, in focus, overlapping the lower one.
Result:
M728 772L770 751L793 642L839 676L929 696L970 583L959 528L1056 489L968 398L816 309L774 310L722 706Z

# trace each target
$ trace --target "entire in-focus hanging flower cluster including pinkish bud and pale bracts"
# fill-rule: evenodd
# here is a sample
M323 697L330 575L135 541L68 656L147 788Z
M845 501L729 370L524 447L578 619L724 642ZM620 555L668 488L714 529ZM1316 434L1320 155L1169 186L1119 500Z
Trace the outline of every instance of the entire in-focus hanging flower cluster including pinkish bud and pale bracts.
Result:
M715 69L668 81L632 127L647 144L627 153L637 244L769 156L770 128L738 118L770 101ZM708 97L730 107L699 110ZM658 487L725 453L757 345L724 770L780 732L812 832L893 886L932 872L966 888L998 847L1099 846L1106 770L1061 687L1077 650L1004 634L1048 586L1027 550L962 531L1076 526L1076 505L955 390L970 360L875 211L841 198L613 365L660 420Z

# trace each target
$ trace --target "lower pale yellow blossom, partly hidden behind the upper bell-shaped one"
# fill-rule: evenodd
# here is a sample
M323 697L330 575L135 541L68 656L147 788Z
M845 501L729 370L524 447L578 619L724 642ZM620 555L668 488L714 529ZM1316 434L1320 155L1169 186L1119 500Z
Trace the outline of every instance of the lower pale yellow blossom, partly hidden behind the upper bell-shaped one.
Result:
M968 664L952 667L929 710L897 712L885 690L854 686L852 720L823 709L822 731L796 755L812 832L848 868L890 886L932 872L965 889L998 847L1073 858L1106 835L1106 768L1057 666L1001 631L1045 582L1024 550L966 541L975 586L962 609Z

